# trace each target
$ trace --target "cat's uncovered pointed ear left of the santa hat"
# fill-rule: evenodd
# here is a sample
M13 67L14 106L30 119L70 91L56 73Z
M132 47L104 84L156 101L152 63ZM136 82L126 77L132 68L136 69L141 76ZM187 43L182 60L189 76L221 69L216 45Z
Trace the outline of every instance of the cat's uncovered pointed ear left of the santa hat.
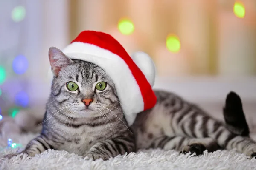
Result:
M61 68L73 63L60 49L56 47L49 48L49 61L53 74L57 77Z

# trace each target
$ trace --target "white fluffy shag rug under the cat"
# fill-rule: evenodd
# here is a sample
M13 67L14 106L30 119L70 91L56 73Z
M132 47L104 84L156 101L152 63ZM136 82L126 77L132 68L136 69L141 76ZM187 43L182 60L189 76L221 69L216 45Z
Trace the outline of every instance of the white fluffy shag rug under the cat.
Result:
M13 142L24 146L33 134L8 136ZM109 161L84 160L66 151L49 150L35 157L24 156L3 159L7 153L17 149L7 149L7 136L0 137L0 170L253 170L256 159L248 159L235 150L204 152L201 156L179 154L175 150L141 150L124 156L116 156Z

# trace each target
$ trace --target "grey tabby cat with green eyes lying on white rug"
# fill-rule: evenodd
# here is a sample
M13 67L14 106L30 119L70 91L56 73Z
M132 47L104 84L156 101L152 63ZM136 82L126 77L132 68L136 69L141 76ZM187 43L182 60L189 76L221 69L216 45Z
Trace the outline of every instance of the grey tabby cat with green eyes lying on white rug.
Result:
M241 136L244 127L231 130L233 126L226 127L196 105L166 91L155 91L157 104L138 113L134 124L128 127L115 85L102 68L71 60L54 47L49 49L49 60L55 76L43 130L21 153L35 156L48 149L66 150L93 160L108 160L144 148L175 149L196 155L204 150L236 148L247 156L256 156L256 143ZM226 105L224 116L228 117L232 105ZM237 114L244 113L239 110Z

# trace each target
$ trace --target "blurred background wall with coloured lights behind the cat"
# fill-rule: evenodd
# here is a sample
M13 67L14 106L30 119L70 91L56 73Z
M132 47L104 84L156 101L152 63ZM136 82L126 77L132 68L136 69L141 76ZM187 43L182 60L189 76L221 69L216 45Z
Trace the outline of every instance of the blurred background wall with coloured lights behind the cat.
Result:
M227 93L256 111L256 0L0 0L0 113L42 115L48 49L104 31L155 62L155 88L221 115ZM254 116L255 117L255 116Z

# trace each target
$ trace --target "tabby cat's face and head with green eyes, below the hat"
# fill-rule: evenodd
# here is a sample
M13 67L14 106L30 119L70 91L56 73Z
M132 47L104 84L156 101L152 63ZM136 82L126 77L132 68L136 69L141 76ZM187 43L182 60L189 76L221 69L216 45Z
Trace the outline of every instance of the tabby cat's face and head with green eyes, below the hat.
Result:
M49 49L49 61L54 75L51 101L62 113L97 117L119 105L111 77L99 66L71 60L55 47Z

